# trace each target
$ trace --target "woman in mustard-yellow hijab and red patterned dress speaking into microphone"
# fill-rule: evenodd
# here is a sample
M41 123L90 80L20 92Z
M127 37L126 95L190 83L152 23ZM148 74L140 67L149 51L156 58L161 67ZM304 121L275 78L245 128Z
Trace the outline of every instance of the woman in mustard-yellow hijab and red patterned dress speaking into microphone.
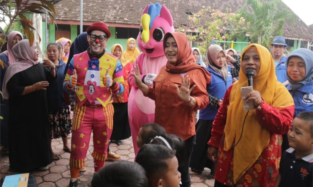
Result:
M258 44L242 52L239 79L230 86L212 124L208 158L216 162L214 186L274 186L281 156L281 134L287 133L295 110L288 90L277 81L269 51ZM254 70L253 91L247 69ZM254 110L244 111L243 102Z

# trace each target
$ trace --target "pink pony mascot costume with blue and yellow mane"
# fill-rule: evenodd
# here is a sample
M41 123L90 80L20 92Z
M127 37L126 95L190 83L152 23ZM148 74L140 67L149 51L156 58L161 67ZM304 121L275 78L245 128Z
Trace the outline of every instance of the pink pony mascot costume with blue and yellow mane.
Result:
M169 10L159 3L147 5L141 15L140 33L137 37L138 47L142 53L137 56L131 72L135 72L138 64L141 80L148 86L152 86L154 78L167 62L162 42L167 32L174 32ZM133 88L128 99L128 118L134 150L137 154L139 148L136 139L139 129L142 125L154 121L155 103L138 89L133 76L129 76L129 83Z

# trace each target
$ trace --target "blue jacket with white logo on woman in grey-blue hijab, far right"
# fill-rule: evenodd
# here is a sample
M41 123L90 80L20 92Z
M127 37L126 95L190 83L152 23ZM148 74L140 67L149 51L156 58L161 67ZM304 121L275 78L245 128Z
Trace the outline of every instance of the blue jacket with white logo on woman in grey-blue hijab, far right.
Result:
M303 111L313 112L313 81L295 91L289 84L286 85L286 88L295 102L294 118Z

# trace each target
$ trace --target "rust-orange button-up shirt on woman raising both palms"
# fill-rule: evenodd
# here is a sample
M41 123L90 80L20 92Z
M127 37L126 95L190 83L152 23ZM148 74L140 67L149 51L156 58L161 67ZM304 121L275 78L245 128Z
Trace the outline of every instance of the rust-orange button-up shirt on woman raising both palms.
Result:
M194 107L188 106L177 95L175 84L181 87L183 75L189 75L190 87L197 85L190 93L196 99ZM184 140L196 134L194 111L204 109L209 103L204 76L200 69L169 73L165 71L164 66L154 79L153 88L149 87L145 96L155 101L154 122L163 126L167 133L175 134Z

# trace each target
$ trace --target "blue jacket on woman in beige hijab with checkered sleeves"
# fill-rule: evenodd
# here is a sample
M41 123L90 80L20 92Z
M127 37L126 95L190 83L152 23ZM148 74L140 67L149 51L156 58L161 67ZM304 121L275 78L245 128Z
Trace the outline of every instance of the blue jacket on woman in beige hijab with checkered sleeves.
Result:
M221 74L214 71L210 66L207 66L206 69L211 73L211 82L207 84L207 92L213 97L218 97L223 100L224 94L227 88L233 83L233 78L230 73L231 67L228 66L228 73L226 77L226 82ZM212 106L207 106L199 112L199 119L201 120L214 120L215 115L217 114L218 109L213 108Z

